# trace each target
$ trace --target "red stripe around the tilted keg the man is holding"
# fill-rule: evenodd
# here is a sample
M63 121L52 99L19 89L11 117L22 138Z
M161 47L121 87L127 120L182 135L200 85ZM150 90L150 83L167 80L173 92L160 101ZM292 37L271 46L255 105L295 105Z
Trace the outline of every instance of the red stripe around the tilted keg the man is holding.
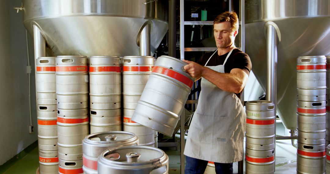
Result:
M164 67L153 67L153 70L152 72L155 72L155 73L160 73L160 74L164 74L164 75L167 75L169 77L172 77L176 80L179 80L181 81L182 83L186 84L187 86L189 86L190 88L192 87L192 84L194 84L194 81L192 81L190 78L178 73L178 72L175 72L171 69L168 69L168 68L164 68Z

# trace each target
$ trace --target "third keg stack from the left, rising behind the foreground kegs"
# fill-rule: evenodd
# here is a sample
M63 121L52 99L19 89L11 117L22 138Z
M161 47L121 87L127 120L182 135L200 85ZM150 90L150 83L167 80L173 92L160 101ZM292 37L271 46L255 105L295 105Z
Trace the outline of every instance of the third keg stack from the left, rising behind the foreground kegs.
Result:
M89 58L90 132L121 130L121 59Z

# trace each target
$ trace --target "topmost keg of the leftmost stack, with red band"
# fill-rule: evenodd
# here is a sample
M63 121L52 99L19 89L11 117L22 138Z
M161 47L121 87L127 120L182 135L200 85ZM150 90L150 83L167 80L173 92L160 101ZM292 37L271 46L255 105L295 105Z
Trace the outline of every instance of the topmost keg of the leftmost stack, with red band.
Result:
M36 60L37 104L56 104L55 57L39 57Z

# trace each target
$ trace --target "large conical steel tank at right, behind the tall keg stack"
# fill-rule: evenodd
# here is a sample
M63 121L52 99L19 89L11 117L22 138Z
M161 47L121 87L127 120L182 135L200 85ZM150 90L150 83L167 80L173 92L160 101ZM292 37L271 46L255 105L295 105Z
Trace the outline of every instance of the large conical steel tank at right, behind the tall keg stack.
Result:
M330 2L327 0L251 0L246 8L246 53L266 91L266 39L263 28L273 21L281 31L277 45L277 113L284 126L295 130L296 58L330 54ZM293 32L294 31L294 32Z

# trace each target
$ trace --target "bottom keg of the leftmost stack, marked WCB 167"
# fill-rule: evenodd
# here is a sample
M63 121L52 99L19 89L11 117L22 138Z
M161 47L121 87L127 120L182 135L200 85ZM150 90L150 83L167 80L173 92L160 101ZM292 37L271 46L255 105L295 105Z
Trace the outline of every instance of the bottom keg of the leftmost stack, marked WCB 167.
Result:
M39 173L58 173L58 151L43 151L39 149Z

